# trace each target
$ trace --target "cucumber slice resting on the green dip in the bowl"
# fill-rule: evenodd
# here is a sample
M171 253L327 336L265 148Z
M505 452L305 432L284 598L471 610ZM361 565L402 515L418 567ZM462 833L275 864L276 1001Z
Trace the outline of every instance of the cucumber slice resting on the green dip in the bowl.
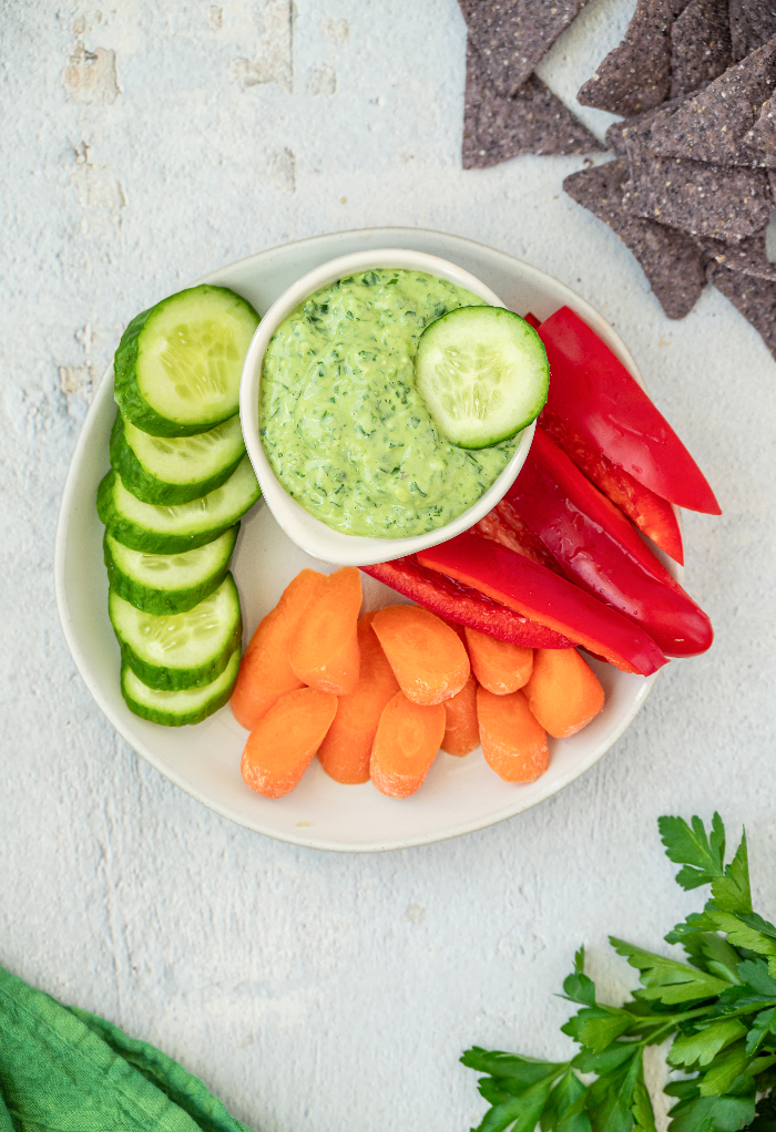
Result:
M460 307L432 323L415 355L418 391L460 448L488 448L531 423L547 400L542 338L503 307Z

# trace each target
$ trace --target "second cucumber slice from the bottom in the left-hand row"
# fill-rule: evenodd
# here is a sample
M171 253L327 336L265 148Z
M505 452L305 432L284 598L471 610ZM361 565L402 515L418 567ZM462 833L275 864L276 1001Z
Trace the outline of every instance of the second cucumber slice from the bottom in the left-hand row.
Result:
M231 574L186 614L144 614L111 590L108 614L121 659L150 688L199 688L223 672L242 641L240 599Z

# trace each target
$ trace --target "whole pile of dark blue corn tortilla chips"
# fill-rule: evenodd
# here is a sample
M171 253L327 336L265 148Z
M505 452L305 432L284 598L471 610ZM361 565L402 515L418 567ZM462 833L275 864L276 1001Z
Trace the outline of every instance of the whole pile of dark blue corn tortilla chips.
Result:
M585 2L459 0L464 168L600 148L531 74ZM776 0L638 0L578 97L624 120L606 135L615 160L566 192L630 248L670 318L711 281L776 357Z

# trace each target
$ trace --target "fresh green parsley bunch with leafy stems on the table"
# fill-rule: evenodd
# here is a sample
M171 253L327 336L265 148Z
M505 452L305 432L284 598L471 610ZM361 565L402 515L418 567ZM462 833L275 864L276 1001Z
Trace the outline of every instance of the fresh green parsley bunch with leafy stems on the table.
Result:
M675 1098L670 1132L776 1132L776 927L752 910L747 835L726 865L718 814L709 833L699 817L689 825L660 817L658 826L668 859L682 866L676 882L685 891L711 886L703 911L665 936L688 961L611 936L641 987L609 1006L598 1002L580 949L563 997L581 1009L561 1027L579 1053L548 1062L467 1049L461 1061L485 1074L479 1091L491 1105L471 1132L537 1124L542 1132L655 1132L643 1050L670 1037L668 1064L684 1074L665 1089Z

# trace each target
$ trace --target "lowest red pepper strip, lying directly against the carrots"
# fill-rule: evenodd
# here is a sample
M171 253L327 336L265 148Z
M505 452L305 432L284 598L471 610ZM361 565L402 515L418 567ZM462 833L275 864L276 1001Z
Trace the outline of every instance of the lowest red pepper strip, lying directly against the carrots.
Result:
M481 543L484 540L477 541ZM528 649L574 646L573 641L498 604L480 590L454 582L436 571L425 569L415 555L394 558L390 563L377 563L375 566L361 566L361 569L398 593L403 593L406 598L411 598L419 606L430 609L433 614L455 621L457 625L479 629L500 641L511 641L512 644L521 644Z

